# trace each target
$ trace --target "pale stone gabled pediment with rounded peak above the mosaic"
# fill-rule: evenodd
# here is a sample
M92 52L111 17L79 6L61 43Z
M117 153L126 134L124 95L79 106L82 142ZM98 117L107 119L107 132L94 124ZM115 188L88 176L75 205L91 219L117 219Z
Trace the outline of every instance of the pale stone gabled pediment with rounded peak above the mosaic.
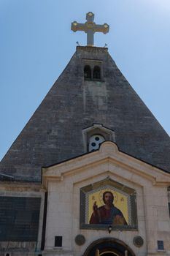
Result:
M85 178L90 178L92 173L93 176L115 173L140 185L142 181L150 181L153 185L170 185L169 173L119 151L117 145L111 141L102 143L98 151L43 167L42 184L47 188L48 181L63 181L67 176L74 176L74 180L77 178L78 181L80 172L85 173Z

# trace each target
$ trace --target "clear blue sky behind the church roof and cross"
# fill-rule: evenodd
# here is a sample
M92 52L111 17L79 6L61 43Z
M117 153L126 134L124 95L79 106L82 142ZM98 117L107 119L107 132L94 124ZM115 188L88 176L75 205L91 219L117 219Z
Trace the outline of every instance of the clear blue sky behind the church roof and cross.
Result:
M86 34L71 23L108 23L117 67L170 135L169 0L0 0L0 159L68 64Z

